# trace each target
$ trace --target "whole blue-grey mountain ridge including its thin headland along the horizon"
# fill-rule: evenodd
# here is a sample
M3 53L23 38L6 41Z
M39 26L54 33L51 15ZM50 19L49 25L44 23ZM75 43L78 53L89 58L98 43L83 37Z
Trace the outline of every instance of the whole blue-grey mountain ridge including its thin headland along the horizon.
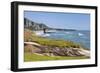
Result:
M24 18L24 28L28 28L31 30L57 30L57 31L75 31L75 29L60 29L60 28L51 28L48 27L47 25L43 24L43 23L37 23L34 21L31 21L27 18Z

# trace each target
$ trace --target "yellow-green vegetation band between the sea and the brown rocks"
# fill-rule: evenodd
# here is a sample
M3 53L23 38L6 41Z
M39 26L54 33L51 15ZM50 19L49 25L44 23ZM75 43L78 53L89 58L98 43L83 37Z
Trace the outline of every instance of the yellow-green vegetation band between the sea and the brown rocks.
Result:
M81 46L78 43L74 43L72 41L65 41L65 40L53 40L46 37L36 36L34 32L31 30L25 30L24 33L24 41L28 42L36 42L44 46L51 46L51 47L72 47L72 48L80 48Z

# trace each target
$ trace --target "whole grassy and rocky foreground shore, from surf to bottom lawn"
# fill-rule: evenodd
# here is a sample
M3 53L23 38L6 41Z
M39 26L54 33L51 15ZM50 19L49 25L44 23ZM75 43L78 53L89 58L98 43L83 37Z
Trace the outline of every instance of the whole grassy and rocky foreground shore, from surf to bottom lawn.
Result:
M81 58L87 59L91 57L90 51L81 47L81 45L78 45L77 43L65 40L53 40L36 36L41 36L41 34L44 35L43 31L25 31L25 59L29 59L29 57L31 57L29 61L41 61L49 59L55 60L57 59L57 56L60 56L58 60L69 60L70 58L75 60ZM26 53L29 53L30 55L27 55ZM35 58L37 55L39 59Z

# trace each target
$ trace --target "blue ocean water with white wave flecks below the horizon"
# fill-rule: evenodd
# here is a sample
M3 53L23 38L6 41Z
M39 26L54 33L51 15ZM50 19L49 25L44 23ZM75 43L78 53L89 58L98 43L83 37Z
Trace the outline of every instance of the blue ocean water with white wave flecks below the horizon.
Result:
M90 49L90 31L56 31L46 33L45 37L51 39L70 40L81 44L83 47Z

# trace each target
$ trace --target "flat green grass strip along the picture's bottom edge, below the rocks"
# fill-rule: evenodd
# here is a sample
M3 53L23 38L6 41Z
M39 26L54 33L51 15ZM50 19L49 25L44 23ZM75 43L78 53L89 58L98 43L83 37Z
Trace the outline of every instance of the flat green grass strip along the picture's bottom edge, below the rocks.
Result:
M77 56L77 57L61 57L61 56L42 56L32 53L24 53L24 61L49 61L49 60L75 60L75 59L88 59L85 56Z

